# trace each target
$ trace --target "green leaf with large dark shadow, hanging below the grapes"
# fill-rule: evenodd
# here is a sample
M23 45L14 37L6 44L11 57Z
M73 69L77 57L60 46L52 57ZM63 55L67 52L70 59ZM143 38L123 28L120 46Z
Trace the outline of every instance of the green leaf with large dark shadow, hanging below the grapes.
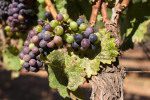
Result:
M69 97L67 92L67 76L64 73L65 58L64 53L54 50L48 56L48 79L49 86L57 89L64 98Z

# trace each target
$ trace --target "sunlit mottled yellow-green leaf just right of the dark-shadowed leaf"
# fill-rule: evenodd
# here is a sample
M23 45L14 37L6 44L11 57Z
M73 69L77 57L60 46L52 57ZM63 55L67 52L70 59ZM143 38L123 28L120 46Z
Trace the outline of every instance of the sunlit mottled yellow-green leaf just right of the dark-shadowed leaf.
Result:
M71 55L65 56L65 72L68 75L68 89L71 91L75 91L79 85L83 84L85 81L85 72L84 67L82 66L82 59L80 59L78 56L74 55L73 53Z

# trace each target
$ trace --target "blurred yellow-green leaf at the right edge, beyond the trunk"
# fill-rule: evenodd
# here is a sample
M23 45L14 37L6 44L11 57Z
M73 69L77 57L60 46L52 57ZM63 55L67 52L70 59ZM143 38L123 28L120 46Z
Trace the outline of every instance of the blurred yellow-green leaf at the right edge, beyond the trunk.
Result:
M137 30L135 31L132 37L132 41L134 43L142 42L142 40L144 39L145 33L147 33L147 30L148 30L147 28L149 24L150 24L150 20L146 20L139 25L139 27L137 28Z

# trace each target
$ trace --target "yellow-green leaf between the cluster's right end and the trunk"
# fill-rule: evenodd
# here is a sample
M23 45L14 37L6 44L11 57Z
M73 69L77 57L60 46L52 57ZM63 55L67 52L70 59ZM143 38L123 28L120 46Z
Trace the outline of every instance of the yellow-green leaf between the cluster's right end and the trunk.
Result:
M111 64L116 61L119 52L115 44L115 39L111 38L110 33L107 33L104 29L101 29L100 32L96 34L101 41L101 52L96 58L104 64Z

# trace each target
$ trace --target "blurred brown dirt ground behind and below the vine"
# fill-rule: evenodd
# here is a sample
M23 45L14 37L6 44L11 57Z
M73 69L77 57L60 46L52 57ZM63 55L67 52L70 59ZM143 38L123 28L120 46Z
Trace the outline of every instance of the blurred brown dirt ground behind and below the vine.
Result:
M124 100L150 100L149 53L145 52L143 46L136 46L133 50L124 52L120 58L120 66L125 67L127 72ZM14 78L15 75L0 70L0 100L62 100L55 90L49 88L45 71L22 73L17 78ZM84 85L81 89L86 98L89 98L89 85Z

